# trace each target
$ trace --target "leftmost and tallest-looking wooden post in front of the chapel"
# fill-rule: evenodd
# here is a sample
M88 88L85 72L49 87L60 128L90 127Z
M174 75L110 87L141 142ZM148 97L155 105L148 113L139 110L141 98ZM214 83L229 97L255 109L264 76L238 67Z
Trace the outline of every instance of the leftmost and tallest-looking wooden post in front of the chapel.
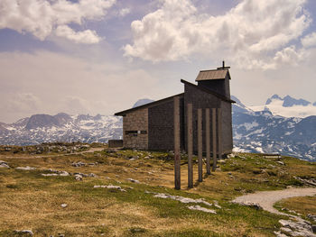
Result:
M173 98L173 132L174 132L174 188L181 188L180 171L180 99L179 96Z

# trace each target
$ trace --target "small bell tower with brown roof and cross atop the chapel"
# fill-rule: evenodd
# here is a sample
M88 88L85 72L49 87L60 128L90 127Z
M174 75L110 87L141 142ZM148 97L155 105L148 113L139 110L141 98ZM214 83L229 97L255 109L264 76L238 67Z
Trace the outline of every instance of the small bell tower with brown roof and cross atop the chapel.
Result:
M195 81L198 82L199 87L206 87L209 90L230 99L229 68L230 67L225 67L225 61L223 61L223 67L200 71Z

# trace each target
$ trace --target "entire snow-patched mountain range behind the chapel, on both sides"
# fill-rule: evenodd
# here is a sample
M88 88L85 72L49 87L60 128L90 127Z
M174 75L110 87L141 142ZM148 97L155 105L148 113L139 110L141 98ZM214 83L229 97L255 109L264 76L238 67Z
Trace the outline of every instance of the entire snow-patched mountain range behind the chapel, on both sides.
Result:
M277 152L316 161L316 116L291 116L293 109L312 107L310 102L277 95L267 99L262 110L247 107L237 97L233 105L234 150ZM142 99L135 106L152 102ZM276 114L278 106L283 114ZM306 114L307 112L305 112ZM315 113L316 114L316 111ZM34 114L15 123L0 123L0 144L30 145L51 141L107 142L122 139L122 118L113 115Z

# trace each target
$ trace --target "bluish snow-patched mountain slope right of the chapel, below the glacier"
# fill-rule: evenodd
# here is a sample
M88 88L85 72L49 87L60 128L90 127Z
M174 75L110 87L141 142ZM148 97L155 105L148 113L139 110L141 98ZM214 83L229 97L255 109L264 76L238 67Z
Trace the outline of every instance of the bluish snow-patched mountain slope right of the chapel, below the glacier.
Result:
M306 118L253 111L237 98L233 105L234 150L277 152L316 161L316 116Z

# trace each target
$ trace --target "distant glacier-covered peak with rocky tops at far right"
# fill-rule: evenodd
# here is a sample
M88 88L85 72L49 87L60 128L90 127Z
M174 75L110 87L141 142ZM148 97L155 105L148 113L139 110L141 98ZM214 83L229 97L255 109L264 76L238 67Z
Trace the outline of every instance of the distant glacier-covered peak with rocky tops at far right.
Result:
M266 100L265 105L250 106L254 111L268 110L274 115L282 115L284 117L307 117L316 115L316 102L311 102L304 99L295 99L291 96L283 98L274 95Z

